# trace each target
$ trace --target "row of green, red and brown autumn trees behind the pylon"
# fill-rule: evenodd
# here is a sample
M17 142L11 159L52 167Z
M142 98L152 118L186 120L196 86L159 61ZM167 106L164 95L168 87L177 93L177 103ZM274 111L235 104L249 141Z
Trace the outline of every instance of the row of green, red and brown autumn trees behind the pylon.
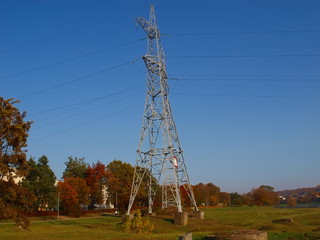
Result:
M27 162L29 173L21 185L34 196L32 211L56 209L59 195L60 208L70 216L80 216L83 209L118 207L126 209L129 202L134 167L120 160L108 165L100 161L91 165L85 158L68 157L65 162L63 180L56 183L56 177L49 167L46 156L36 162L33 158ZM213 183L199 183L192 186L198 206L270 206L279 203L279 197L270 186L260 186L250 193L221 192ZM142 183L137 194L135 206L146 207L147 181ZM190 199L181 186L181 199L184 207L191 206ZM161 188L158 188L155 207L161 207ZM114 206L117 204L117 206Z

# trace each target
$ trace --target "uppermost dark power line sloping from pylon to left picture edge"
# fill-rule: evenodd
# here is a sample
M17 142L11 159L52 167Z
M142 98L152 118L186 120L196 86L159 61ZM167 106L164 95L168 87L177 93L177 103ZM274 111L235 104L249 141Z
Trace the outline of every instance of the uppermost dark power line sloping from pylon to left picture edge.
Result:
M93 52L89 52L89 53L86 53L86 54L83 54L83 55L80 55L80 56L77 56L77 57L68 58L68 59L65 59L65 60L62 60L62 61L58 61L58 62L55 62L55 63L50 63L50 64L42 65L42 66L39 66L39 67L27 69L27 70L24 70L24 71L21 71L21 72L9 74L9 75L6 75L6 76L1 76L0 79L6 79L6 78L11 78L11 77L16 77L16 76L19 76L19 75L23 75L23 74L26 74L26 73L30 73L30 72L42 70L42 69L45 69L45 68L57 66L57 65L60 65L60 64L64 64L64 63L68 63L68 62L73 62L73 61L75 61L75 60L78 60L78 59L81 59L81 58L85 58L85 57L89 57L89 56L92 56L92 55L95 55L95 54L98 54L98 53L106 52L106 51L109 51L109 50L112 50L112 49L115 49L115 48L120 48L120 47L128 46L128 45L131 45L131 44L140 42L141 40L144 40L144 39L139 39L139 40L135 40L135 41L130 41L130 42L122 43L122 44L119 44L119 45L116 45L116 46L113 46L113 47L103 48L103 49L100 49L100 50L96 50L96 51L93 51Z

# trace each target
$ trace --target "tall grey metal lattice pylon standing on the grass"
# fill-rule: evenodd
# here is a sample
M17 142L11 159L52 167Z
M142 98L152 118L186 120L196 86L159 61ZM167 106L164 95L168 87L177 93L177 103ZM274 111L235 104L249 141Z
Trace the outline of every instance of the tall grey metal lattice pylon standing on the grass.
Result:
M174 206L182 212L180 186L183 186L198 211L169 102L165 54L154 7L150 7L149 21L143 17L136 20L147 34L148 50L143 56L147 67L147 94L127 214L145 179L148 179L149 213L160 186L163 208Z

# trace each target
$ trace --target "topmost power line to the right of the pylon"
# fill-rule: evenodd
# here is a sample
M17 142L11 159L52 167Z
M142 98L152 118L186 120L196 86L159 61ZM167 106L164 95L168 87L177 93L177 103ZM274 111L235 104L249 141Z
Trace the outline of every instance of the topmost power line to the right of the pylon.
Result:
M247 31L247 32L203 32L203 33L168 33L161 36L200 36L200 35L233 35L233 34L270 34L270 33L313 33L320 32L318 29L310 30L284 30L284 31Z

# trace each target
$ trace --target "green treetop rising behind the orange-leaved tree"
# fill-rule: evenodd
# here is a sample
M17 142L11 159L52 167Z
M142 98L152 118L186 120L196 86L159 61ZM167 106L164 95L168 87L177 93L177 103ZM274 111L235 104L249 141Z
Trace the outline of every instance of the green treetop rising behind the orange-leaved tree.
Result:
M66 169L63 172L63 178L66 177L80 177L85 178L88 164L85 162L85 158L68 157L68 161L64 163Z

